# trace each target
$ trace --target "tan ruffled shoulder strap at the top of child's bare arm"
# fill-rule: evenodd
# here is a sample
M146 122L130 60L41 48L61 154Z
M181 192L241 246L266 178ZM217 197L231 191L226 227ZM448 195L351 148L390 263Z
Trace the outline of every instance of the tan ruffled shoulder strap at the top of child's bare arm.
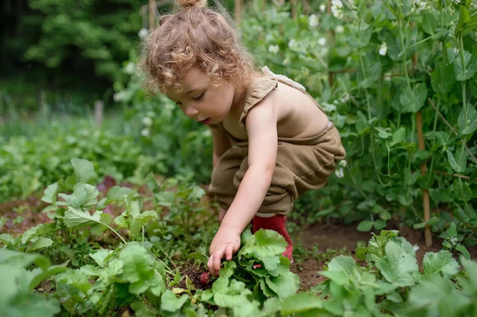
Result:
M249 110L260 100L265 98L265 96L277 87L277 85L277 80L270 76L260 76L252 79L245 94L244 110L242 111L240 120L238 120L238 124L240 124L242 129L247 131L247 128L245 127L245 118L247 117Z

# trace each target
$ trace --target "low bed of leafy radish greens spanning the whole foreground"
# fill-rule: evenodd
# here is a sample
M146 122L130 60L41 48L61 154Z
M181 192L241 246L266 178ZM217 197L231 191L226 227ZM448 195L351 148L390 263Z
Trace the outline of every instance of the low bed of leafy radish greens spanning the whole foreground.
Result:
M461 271L451 252L428 252L421 272L413 247L396 231L373 234L367 247L357 248L356 259L332 259L320 272L328 279L296 293L299 278L281 256L284 239L274 231L252 235L247 230L240 251L224 262L220 277L202 281L204 288L181 268L205 271L206 241L195 230L172 235L184 226L182 216L210 220L203 189L151 178L160 208L143 211L143 199L128 187L113 186L99 199L89 183L95 179L92 163L74 159L72 166L71 176L45 190L43 200L50 205L44 211L52 223L19 237L0 235L0 308L9 316L110 316L124 307L140 316L464 316L477 311L477 262L461 258ZM166 188L170 185L173 191ZM122 205L121 214L108 211L112 205ZM213 228L195 229L203 239L211 238Z

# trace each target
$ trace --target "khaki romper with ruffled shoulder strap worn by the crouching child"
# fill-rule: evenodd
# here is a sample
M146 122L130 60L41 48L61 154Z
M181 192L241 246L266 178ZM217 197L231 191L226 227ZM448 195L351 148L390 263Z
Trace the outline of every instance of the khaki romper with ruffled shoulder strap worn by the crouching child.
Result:
M268 69L264 68L263 71L268 71ZM278 82L305 92L303 86L291 79L271 74L272 76L254 78L247 88L245 106L239 121L244 131L246 131L245 117L248 111L277 87ZM308 96L310 95L308 94ZM310 98L314 100L311 96ZM318 103L316 105L323 111ZM248 141L234 138L223 128L221 123L213 125L212 128L226 132L232 144L232 148L220 157L214 168L210 185L211 194L216 197L220 207L227 210L248 169ZM295 199L309 189L317 189L326 185L337 162L342 160L345 155L340 134L331 121L322 132L314 137L282 138L278 136L277 163L272 183L256 215L260 217L271 217L276 214L286 215L291 211Z

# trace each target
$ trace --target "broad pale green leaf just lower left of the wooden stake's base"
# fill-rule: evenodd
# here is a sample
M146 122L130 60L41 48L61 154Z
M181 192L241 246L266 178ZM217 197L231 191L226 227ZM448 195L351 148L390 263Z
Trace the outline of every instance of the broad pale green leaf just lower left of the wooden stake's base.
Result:
M419 276L418 261L394 241L385 246L385 257L376 263L384 279L397 287L413 286Z

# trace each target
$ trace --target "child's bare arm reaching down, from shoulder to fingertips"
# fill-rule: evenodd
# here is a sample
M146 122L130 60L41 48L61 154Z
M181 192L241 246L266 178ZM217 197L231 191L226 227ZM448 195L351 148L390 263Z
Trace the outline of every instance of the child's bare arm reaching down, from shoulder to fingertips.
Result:
M274 105L262 100L249 111L245 123L249 139L249 168L211 243L207 267L215 276L219 273L222 258L232 259L232 254L240 247L240 235L263 203L277 160L277 114Z

